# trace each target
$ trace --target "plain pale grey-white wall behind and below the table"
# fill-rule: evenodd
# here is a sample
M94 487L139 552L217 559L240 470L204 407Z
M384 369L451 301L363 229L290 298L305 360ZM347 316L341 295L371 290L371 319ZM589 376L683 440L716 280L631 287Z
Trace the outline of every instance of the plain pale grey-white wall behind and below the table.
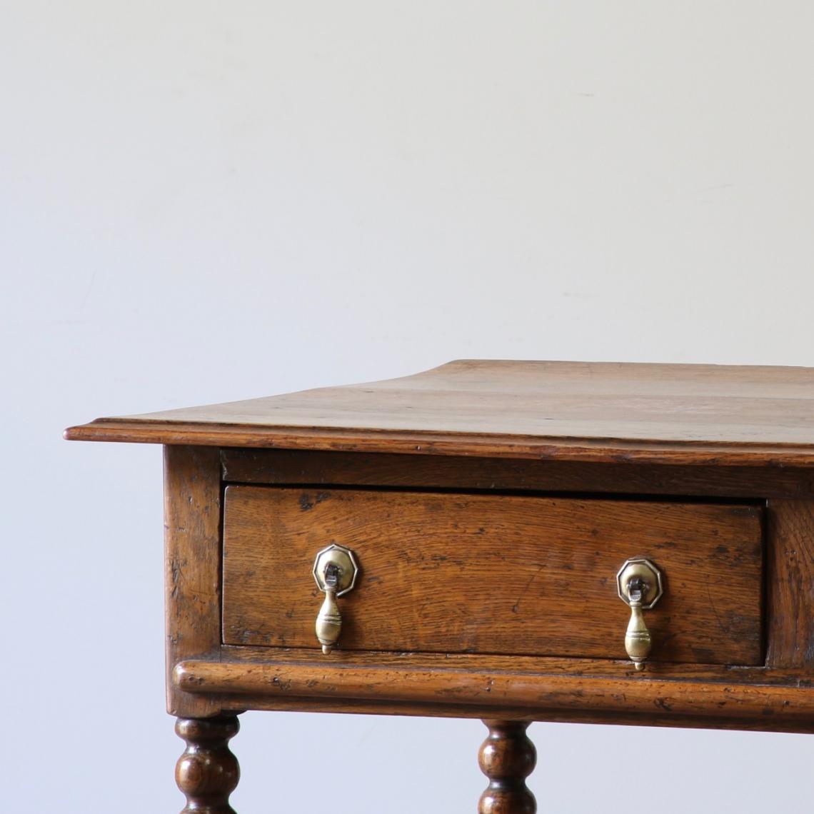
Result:
M812 27L789 0L2 2L2 809L182 807L160 449L69 423L456 357L814 365ZM484 731L247 714L234 805L475 811ZM532 736L541 812L811 806L803 736Z

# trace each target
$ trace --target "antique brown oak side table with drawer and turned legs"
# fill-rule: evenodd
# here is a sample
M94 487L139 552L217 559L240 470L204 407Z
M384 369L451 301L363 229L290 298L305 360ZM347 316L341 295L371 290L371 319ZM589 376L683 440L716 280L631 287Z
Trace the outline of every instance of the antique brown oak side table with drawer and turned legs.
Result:
M814 732L814 370L454 361L100 418L164 444L184 812L232 812L246 710Z

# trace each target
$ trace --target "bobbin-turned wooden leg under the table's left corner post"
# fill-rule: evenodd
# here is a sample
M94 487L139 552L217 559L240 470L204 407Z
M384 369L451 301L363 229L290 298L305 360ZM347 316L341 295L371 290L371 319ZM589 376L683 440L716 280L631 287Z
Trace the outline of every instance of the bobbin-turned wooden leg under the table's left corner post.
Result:
M238 785L240 767L229 740L239 729L234 715L176 721L175 731L186 742L175 767L175 781L186 794L181 814L235 814L229 795Z

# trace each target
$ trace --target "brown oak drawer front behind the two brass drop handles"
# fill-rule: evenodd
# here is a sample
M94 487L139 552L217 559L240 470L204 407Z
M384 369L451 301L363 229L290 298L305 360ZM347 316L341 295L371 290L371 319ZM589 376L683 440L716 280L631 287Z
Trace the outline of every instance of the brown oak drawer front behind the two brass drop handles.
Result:
M318 648L317 551L356 554L344 650L625 659L616 573L662 571L654 661L762 661L755 505L230 486L223 639ZM329 657L326 657L329 658Z

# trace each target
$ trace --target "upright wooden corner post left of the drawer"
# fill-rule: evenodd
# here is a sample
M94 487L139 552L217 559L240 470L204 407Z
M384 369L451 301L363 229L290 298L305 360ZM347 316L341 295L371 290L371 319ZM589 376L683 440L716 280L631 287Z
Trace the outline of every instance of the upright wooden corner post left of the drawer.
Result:
M173 666L221 645L221 480L217 449L164 449L167 710L217 715L217 702L179 692Z

